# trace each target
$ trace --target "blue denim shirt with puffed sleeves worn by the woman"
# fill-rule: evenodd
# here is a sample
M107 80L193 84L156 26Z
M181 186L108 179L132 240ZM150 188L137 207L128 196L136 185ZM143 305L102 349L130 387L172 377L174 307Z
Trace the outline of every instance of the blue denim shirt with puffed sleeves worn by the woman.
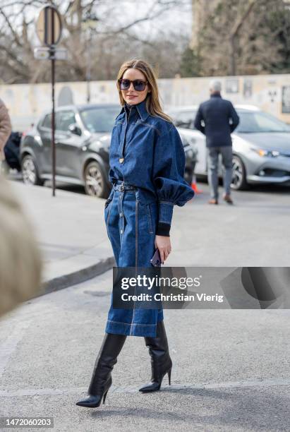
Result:
M179 133L169 121L147 112L146 100L123 107L111 133L109 181L138 188L142 203L158 202L159 224L171 224L174 205L194 196L183 179L186 156Z

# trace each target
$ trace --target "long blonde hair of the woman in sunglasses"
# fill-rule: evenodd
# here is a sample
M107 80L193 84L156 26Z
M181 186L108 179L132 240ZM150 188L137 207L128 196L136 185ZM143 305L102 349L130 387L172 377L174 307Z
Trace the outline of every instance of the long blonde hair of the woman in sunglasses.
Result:
M155 77L155 73L153 71L152 66L148 64L144 60L140 59L133 59L124 61L124 63L121 65L118 76L117 76L117 88L119 91L119 98L120 98L120 104L123 106L125 105L125 100L123 98L120 86L119 86L119 80L123 78L123 74L127 71L127 69L138 69L140 72L145 75L145 78L148 82L148 87L150 88L150 92L147 93L146 97L146 109L149 114L155 117L161 117L162 119L166 121L170 121L172 123L171 118L165 114L162 111L162 107L159 100L159 91L157 86L157 80Z

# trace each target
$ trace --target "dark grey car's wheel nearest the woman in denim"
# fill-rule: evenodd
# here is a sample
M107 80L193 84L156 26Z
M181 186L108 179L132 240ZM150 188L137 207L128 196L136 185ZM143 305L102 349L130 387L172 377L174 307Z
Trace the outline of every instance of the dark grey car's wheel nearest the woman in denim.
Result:
M85 167L85 192L97 198L107 198L109 188L100 165L92 161Z

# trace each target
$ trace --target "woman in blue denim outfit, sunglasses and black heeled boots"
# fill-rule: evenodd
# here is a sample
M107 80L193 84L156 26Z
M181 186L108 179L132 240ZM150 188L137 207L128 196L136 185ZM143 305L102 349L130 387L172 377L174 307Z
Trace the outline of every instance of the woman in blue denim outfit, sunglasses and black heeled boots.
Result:
M111 133L109 181L105 203L107 234L118 267L151 267L159 249L164 262L171 252L174 205L193 198L183 179L185 154L178 131L162 112L152 68L142 60L126 61L117 87L121 112ZM95 362L88 397L82 407L99 407L111 386L111 370L128 335L143 336L151 356L151 382L141 392L159 390L172 362L162 309L109 308L106 332Z

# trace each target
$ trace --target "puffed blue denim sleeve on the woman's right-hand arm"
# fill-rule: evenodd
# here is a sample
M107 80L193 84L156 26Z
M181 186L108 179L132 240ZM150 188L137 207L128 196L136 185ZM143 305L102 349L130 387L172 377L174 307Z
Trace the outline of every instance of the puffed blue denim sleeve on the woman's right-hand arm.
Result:
M186 155L174 124L158 136L155 143L153 181L159 201L157 234L169 236L174 205L180 207L194 196L184 180Z

